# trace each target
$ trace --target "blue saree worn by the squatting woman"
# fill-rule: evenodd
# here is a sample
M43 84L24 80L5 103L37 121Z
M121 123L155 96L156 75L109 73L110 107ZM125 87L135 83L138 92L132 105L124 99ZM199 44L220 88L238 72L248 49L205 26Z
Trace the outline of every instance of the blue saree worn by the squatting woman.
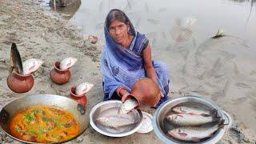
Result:
M129 20L129 18L127 19ZM143 45L148 40L144 34L140 34L134 30L131 22L130 33L134 35L134 38L130 43L129 49L123 48L114 42L114 39L111 38L106 28L106 22L104 33L106 45L102 50L100 65L102 86L105 94L103 100L106 101L113 98L113 94L119 86L126 87L126 90L130 92L131 86L133 86L136 80L146 77L142 54ZM163 97L157 106L155 106L157 108L162 102L168 99L170 76L165 63L158 61L153 61L152 63L157 74L158 85L161 86L161 92L163 94Z

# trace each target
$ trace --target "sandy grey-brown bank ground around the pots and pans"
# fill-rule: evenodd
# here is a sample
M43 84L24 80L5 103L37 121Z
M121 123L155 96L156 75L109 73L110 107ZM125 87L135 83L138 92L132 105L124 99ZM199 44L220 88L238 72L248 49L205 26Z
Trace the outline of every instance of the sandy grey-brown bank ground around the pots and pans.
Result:
M42 67L34 73L34 87L25 94L16 94L6 85L10 66L10 44L16 42L22 61L28 58L40 58ZM81 30L63 20L58 15L40 7L40 2L0 0L0 106L31 94L58 94L68 97L70 86L81 82L92 82L94 88L87 94L87 110L102 101L102 77L99 72L99 55L102 43L90 44L82 38ZM52 62L66 57L78 58L70 69L70 82L59 86L51 82ZM177 95L176 93L170 94ZM154 114L153 109L142 109ZM19 143L0 133L1 143ZM246 129L238 119L219 143L256 143L256 132ZM124 138L110 138L99 134L92 127L67 143L162 143L150 132L149 134L131 134Z

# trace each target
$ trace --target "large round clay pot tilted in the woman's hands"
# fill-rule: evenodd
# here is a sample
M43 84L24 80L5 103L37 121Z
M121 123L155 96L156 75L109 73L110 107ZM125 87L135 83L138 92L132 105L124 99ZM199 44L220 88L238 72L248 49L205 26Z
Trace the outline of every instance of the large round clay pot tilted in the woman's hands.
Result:
M160 87L151 78L140 78L134 83L130 92L138 100L139 106L155 106L160 98Z

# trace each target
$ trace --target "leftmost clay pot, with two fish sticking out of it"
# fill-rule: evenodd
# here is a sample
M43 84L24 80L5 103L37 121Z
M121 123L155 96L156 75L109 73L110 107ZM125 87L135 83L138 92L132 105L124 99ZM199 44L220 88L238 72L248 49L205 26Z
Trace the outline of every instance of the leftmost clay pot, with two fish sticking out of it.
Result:
M15 93L26 93L34 86L34 78L31 74L18 74L13 71L7 78L7 86Z

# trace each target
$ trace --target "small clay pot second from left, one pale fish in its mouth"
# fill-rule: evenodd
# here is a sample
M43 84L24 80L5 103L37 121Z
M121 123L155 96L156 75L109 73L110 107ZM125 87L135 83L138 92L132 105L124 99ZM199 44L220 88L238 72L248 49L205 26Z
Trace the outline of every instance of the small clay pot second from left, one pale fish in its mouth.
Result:
M50 79L59 85L65 84L70 80L70 70L60 70L59 69L60 62L54 62L54 69L50 71Z

